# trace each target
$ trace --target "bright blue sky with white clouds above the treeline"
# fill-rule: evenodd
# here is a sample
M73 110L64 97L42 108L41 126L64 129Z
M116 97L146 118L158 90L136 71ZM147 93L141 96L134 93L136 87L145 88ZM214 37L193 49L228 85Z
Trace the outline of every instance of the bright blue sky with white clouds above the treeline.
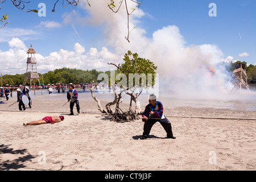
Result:
M27 55L24 51L30 48L30 44L38 53L36 59L39 72L42 73L62 67L105 71L109 67L107 62L122 61L122 55L128 51L127 48L147 59L158 61L148 53L152 52L147 47L148 44L152 49L152 44L155 44L156 48L163 50L169 44L177 43L182 49L193 49L193 53L187 57L195 54L193 45L210 45L204 51L207 49L208 53L214 54L214 59L241 60L247 64L256 64L255 0L143 0L141 9L134 11L134 18L130 18L131 29L136 27L130 34L131 43L124 38L127 35L126 16L112 13L104 4L109 1L100 1L103 4L100 6L99 2L92 0L89 1L92 2L92 7L89 7L86 1L81 0L79 6L74 7L75 14L70 5L63 8L62 1L57 4L56 12L52 13L54 2L33 0L25 4L25 9L39 10L39 3L45 3L45 17L20 11L9 1L0 3L0 15L9 16L9 23L0 29L1 72L26 72ZM216 4L217 16L209 16L210 3ZM95 11L100 13L96 14ZM159 43L163 45L158 46L158 41L154 40L158 31L162 35L173 36L170 39L161 38ZM165 42L168 40L174 42ZM170 52L180 48L175 46L174 44L170 47ZM214 62L212 57L207 61L209 64ZM6 61L10 61L10 64L6 64Z

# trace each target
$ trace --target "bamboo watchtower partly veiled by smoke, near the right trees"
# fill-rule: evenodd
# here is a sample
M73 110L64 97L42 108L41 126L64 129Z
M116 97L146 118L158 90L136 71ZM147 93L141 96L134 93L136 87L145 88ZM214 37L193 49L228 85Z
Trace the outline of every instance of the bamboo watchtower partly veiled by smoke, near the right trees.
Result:
M232 73L232 77L230 78L229 82L234 84L234 87L231 92L246 89L249 90L249 86L247 83L247 75L245 72L246 65L243 63L237 63L235 65L235 70Z

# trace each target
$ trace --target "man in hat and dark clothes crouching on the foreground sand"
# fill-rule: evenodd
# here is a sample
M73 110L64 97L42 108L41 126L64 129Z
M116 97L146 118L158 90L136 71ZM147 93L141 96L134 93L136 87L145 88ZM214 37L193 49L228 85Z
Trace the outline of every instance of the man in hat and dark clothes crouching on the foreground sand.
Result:
M156 101L156 96L154 94L150 95L148 102L149 104L142 113L144 127L141 139L148 138L150 130L156 122L159 122L163 126L164 130L166 130L167 138L175 139L172 134L171 122L163 115L163 104Z

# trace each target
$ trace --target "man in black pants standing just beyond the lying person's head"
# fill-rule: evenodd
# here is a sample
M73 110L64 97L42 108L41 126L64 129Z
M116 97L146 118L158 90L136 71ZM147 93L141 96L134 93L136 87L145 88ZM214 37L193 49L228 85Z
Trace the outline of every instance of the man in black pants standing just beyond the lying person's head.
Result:
M76 109L77 109L77 113L80 113L80 106L79 106L79 100L78 100L78 93L76 92L75 88L73 87L73 85L69 85L69 90L67 93L67 98L68 98L68 102L70 101L70 114L69 115L74 115L73 113L73 107L76 103Z

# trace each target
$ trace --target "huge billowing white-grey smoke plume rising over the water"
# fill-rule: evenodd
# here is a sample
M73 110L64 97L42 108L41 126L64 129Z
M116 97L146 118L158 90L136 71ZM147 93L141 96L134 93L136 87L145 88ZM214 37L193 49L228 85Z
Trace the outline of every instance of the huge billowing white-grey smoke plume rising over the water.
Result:
M115 49L115 53L124 55L130 50L155 63L158 67L156 72L159 73L160 94L182 98L223 99L229 95L233 86L228 83L232 74L226 70L224 64L228 57L224 57L217 45L187 46L179 28L174 25L160 28L148 37L146 30L139 28L140 18L144 15L142 9L135 10L130 16L130 30L137 25L138 27L131 32L128 43L124 38L127 35L125 8L122 7L115 14L104 2L92 1L92 7L88 7L84 1L83 6L89 12L90 22L101 24L106 42ZM130 7L137 5L127 2ZM211 68L214 73L210 71Z

